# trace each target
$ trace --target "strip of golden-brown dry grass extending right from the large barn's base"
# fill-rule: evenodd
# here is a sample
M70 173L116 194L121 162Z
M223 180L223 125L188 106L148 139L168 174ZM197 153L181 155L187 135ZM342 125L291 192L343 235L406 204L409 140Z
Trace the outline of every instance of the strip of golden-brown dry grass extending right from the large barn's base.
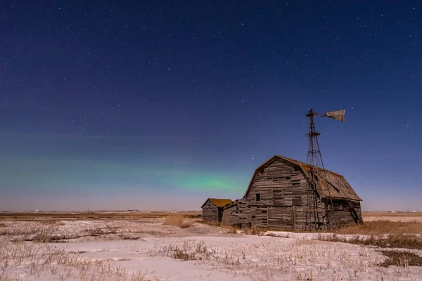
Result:
M363 225L351 225L330 232L362 235L421 234L422 223L417 221L366 221Z

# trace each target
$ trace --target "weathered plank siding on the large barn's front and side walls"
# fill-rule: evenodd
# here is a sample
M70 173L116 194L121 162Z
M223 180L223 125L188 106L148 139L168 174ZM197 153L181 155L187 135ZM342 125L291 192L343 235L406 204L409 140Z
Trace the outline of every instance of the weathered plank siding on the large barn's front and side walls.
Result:
M333 202L333 209L328 208L326 199L317 195L316 203L316 222L319 226L354 223L346 200ZM362 217L360 202L354 202L354 206ZM316 224L314 209L314 198L302 169L284 159L276 159L264 169L256 171L249 192L233 207L224 210L222 223L250 223L252 227L285 230L312 229Z

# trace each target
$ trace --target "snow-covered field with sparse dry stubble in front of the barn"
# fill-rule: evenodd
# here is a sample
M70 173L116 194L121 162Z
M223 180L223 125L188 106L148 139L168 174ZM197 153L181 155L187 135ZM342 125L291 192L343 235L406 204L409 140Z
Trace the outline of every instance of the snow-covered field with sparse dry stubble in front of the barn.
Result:
M386 257L375 247L317 233L228 232L156 218L3 220L0 281L422 280L422 267L378 266Z

